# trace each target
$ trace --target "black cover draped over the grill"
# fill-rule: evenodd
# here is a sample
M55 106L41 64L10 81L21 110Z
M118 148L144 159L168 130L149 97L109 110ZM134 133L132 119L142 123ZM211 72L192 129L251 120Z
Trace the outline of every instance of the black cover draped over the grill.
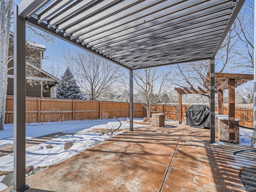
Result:
M210 108L206 105L192 105L186 110L187 124L210 128Z

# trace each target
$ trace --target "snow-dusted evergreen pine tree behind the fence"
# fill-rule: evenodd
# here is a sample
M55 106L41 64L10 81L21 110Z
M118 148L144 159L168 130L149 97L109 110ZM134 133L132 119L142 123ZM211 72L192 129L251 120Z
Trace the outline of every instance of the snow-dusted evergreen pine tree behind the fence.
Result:
M61 77L61 83L59 84L56 98L84 99L79 86L76 84L74 75L69 68L66 69L65 73Z

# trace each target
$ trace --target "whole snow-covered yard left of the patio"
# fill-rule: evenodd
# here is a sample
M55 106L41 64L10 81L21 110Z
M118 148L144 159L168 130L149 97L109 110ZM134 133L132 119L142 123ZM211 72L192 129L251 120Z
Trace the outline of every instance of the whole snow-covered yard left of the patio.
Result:
M125 122L125 118L118 119L121 121L122 126L116 134L122 133L130 127L130 124ZM114 134L110 136L107 133L100 135L100 132L108 132L109 128L117 128L118 126L119 122L116 119L26 124L26 140L57 132L66 134L65 136L56 135L56 138L48 142L26 148L26 166L32 165L36 168L37 166L42 167L58 164L115 136ZM134 124L134 128L140 126L144 125ZM13 124L5 124L4 130L0 131L0 148L13 144L13 139ZM66 142L74 142L74 144L68 150L64 150L64 144ZM53 148L46 148L48 144L51 144ZM13 160L13 153L1 157L0 171L13 171ZM0 176L0 181L3 178L4 175ZM0 190L5 188L7 186L0 183Z

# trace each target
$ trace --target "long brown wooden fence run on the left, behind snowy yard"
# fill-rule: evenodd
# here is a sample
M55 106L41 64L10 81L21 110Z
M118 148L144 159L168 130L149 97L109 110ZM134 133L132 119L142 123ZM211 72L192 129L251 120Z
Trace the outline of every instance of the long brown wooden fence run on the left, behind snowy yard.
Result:
M13 96L7 96L5 123L13 123L13 110ZM133 114L134 117L145 116L142 104L133 104ZM26 97L27 123L105 119L114 116L129 117L129 103Z

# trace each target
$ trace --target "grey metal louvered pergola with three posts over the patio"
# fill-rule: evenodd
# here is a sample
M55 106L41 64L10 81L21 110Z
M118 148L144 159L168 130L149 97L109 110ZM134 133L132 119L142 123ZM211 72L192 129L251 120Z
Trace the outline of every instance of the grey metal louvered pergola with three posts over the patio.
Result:
M130 71L210 60L210 142L214 57L245 0L22 0L14 12L14 188L25 185L25 23ZM17 96L18 95L18 96Z

